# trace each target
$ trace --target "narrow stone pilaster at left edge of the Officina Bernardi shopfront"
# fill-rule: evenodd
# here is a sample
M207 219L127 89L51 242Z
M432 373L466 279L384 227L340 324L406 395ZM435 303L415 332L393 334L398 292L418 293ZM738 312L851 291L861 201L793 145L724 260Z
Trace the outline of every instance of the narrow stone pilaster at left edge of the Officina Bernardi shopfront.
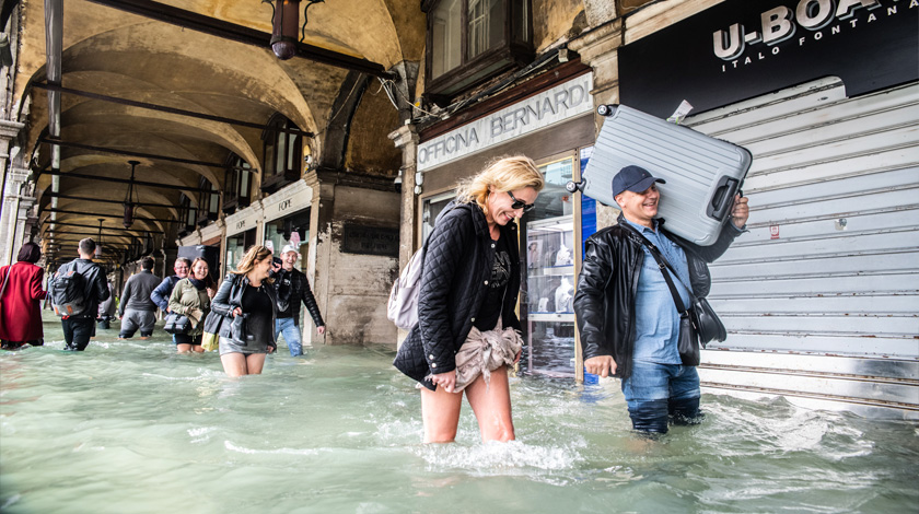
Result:
M403 164L399 167L402 176L402 209L399 213L399 272L415 254L416 245L420 243L418 230L418 198L415 195L415 174L418 171L418 132L414 125L404 125L389 133L389 139L403 151ZM405 340L408 331L399 329L398 344Z

